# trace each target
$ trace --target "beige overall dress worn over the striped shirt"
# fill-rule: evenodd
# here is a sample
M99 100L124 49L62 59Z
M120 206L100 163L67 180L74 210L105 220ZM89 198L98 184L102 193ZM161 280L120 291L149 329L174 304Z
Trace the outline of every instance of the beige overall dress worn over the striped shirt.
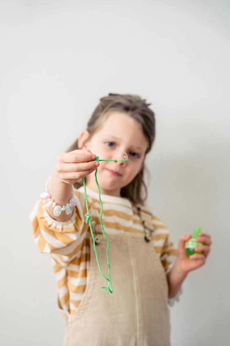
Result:
M163 266L143 234L108 235L113 293L99 272L90 236L90 272L85 294L67 322L63 346L169 346L168 285ZM97 252L107 276L107 242L100 235Z

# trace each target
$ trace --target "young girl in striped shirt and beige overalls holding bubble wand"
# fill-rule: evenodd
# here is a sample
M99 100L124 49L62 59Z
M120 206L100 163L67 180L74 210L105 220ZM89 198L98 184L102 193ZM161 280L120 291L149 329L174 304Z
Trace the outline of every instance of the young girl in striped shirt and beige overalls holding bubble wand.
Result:
M187 274L202 266L209 254L211 238L204 233L197 239L204 245L196 248L203 254L186 255L184 244L190 235L181 236L176 251L167 228L143 207L144 160L154 134L154 113L145 100L133 95L103 97L87 129L68 153L59 155L46 192L31 213L34 240L41 252L50 253L58 282L59 310L67 322L64 345L169 345L168 298L176 296ZM116 159L119 152L126 152L128 161L94 161L96 155ZM85 222L84 188L79 187L86 177L97 253L106 273L107 242L93 174L97 167L110 242L112 294L100 290L105 279Z

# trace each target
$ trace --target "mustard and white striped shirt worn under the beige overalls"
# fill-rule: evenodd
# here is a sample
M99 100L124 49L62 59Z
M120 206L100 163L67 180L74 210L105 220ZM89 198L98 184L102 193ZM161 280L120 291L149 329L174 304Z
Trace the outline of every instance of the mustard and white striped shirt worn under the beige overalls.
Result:
M89 278L90 231L85 223L87 213L83 186L75 190L77 207L73 207L70 220L60 222L52 219L38 200L30 214L33 239L40 252L49 253L58 284L61 308L74 314L82 300ZM94 234L102 234L98 192L87 188L88 207ZM130 200L101 194L102 221L105 233L143 233L144 227L137 208ZM169 242L169 231L154 215L151 215L151 242L164 270L168 272L177 255ZM105 258L107 261L107 258ZM112 268L111 268L112 269Z

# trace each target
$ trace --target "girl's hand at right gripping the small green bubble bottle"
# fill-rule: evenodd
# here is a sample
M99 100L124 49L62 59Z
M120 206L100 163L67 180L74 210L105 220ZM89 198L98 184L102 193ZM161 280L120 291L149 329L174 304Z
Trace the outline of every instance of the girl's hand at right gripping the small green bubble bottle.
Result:
M212 244L211 236L206 233L200 233L197 241L204 245L196 247L195 251L202 251L202 254L193 254L188 256L184 248L185 243L191 238L191 235L182 235L178 245L177 265L180 267L181 272L187 274L192 270L195 270L205 264L206 258L210 252L210 246Z

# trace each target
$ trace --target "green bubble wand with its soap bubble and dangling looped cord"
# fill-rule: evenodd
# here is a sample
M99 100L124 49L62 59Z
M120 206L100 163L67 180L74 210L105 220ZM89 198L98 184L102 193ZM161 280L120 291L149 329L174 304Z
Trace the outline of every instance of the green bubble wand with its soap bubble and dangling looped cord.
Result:
M121 158L121 157L123 157L123 158ZM127 156L127 154L126 154L125 152L122 152L122 154L118 154L117 159L99 160L99 156L96 156L96 158L95 158L94 161L128 161L128 156ZM84 177L83 177L83 178L82 178L82 181L83 181L83 186L84 186L84 194L85 194L86 209L87 209L87 213L86 213L85 217L86 217L86 224L88 224L88 221L89 221L90 232L91 232L91 236L92 236L92 239L93 239L93 249L94 249L94 252L95 252L95 255L96 255L96 259L97 259L97 264L98 264L99 271L100 271L101 275L108 281L108 285L107 285L107 286L104 286L104 287L101 287L101 290L107 290L107 289L109 289L109 292L110 292L110 293L113 293L112 284L111 284L111 279L110 279L109 240L108 240L108 238L107 238L107 236L106 236L106 234L105 234L105 232L104 232L104 226L103 226L103 222L102 222L103 207L102 207L102 201L101 201L100 187L99 187L98 180L97 180L97 171L98 171L98 169L96 169L94 175L95 175L95 180L96 180L96 184L97 184L97 187L98 187L99 201L100 201L100 205L101 205L101 213L100 213L101 228L102 228L103 236L104 236L104 238L105 238L106 241L107 241L106 255L107 255L107 263L108 263L108 277L107 277L106 275L104 275L104 273L102 272L101 266L100 266L100 263L99 263L98 253L97 253L96 246L95 246L95 239L94 239L93 230L92 230L92 225L91 225L91 220L90 220L90 217L91 217L91 216L90 216L89 207L88 207L88 200L87 200L87 193L86 193L86 182L85 182Z

